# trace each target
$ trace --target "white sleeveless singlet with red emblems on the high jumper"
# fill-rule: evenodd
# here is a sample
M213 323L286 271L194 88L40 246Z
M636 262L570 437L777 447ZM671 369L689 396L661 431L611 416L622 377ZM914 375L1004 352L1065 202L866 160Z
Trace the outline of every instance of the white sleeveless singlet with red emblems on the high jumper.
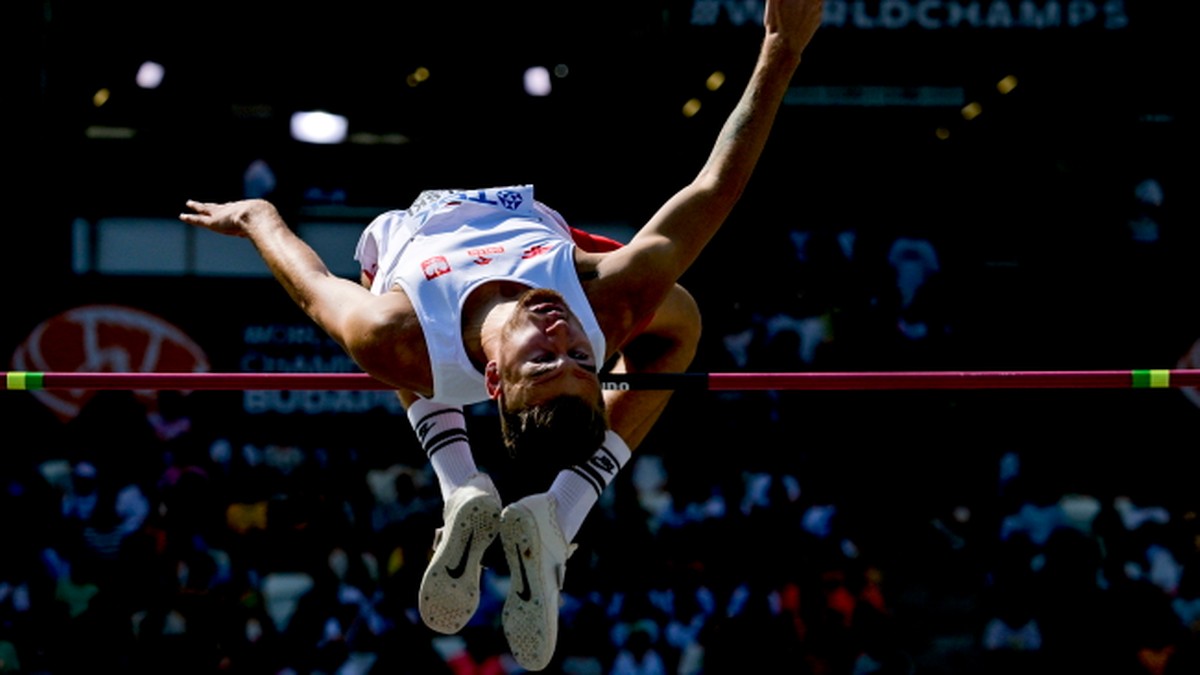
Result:
M425 331L432 400L487 400L484 375L462 341L462 307L486 281L516 281L559 292L580 319L598 360L605 339L575 271L575 244L563 217L535 202L533 186L422 192L407 210L376 217L354 258L373 276L371 292L400 286Z

